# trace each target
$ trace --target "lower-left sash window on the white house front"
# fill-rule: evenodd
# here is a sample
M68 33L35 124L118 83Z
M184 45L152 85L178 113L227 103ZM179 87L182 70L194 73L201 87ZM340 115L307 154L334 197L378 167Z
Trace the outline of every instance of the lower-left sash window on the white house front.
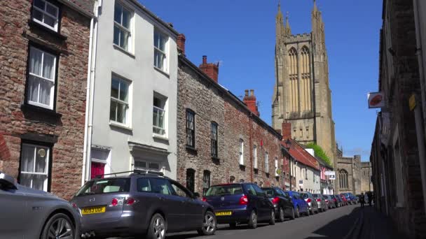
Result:
M111 105L109 119L127 125L129 123L129 85L127 80L113 75L111 78Z

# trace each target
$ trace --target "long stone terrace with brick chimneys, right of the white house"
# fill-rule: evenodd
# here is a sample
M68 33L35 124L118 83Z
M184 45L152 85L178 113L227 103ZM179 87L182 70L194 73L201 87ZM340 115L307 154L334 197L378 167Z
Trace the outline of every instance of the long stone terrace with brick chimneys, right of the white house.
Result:
M177 180L200 194L228 182L280 186L280 133L217 83L217 64L195 66L178 44Z

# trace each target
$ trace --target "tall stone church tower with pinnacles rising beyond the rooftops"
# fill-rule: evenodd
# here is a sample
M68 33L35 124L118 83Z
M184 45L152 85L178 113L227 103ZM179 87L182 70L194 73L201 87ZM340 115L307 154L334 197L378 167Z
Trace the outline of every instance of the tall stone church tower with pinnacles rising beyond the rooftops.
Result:
M329 66L324 22L314 0L312 32L291 34L284 24L280 3L276 16L275 87L272 124L291 123L291 137L303 144L320 145L334 163L336 140L331 115ZM334 166L334 165L333 165Z

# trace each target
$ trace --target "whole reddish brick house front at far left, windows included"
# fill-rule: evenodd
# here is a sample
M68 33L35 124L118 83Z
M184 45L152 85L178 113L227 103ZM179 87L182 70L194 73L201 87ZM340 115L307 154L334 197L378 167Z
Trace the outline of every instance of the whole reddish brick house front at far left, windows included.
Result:
M92 1L0 1L0 171L81 187Z

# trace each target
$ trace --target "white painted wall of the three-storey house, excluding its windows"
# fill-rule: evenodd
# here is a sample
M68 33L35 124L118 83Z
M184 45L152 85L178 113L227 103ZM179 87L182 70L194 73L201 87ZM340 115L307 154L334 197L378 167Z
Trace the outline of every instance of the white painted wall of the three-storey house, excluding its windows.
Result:
M95 95L93 110L92 145L110 149L110 163L105 171L120 172L133 169L135 157L160 163L165 175L176 178L177 166L177 36L158 20L147 15L130 0L120 1L133 11L132 52L125 52L113 45L114 3L102 1L97 36L95 69ZM167 46L168 71L163 73L153 66L153 34L157 27L169 36ZM115 126L109 120L111 100L111 75L130 80L130 124ZM153 136L153 94L167 97L166 135ZM130 153L129 142L148 149L167 150L168 156L139 150ZM155 150L154 150L155 151Z

